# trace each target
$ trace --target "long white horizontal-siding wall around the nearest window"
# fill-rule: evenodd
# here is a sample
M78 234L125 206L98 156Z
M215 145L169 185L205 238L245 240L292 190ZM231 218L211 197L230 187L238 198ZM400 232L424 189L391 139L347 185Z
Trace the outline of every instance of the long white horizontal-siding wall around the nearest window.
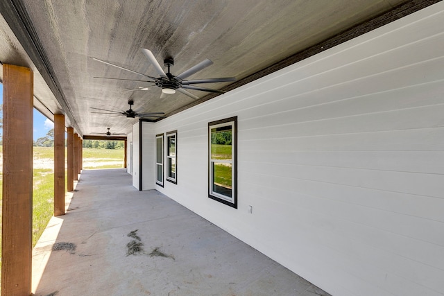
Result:
M155 188L332 295L444 295L443 28L441 2L156 123L178 184ZM230 116L238 209L207 198Z

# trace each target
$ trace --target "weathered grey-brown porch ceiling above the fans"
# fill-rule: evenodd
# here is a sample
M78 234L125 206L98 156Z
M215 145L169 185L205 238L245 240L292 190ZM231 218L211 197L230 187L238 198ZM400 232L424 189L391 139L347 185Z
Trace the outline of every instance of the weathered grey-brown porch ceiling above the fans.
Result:
M124 111L132 99L138 112L169 116L214 95L191 90L200 99L180 93L160 98L157 87L128 92L146 83L94 77L143 76L93 58L156 77L142 48L150 49L162 66L164 58L174 58L171 72L176 75L209 58L214 64L190 79L235 76L238 82L202 85L230 90L263 76L266 69L282 67L285 62L276 65L282 60L295 62L291 57L306 49L320 51L321 46L311 46L396 6L409 10L421 2L430 1L3 0L0 61L33 69L35 107L50 119L64 113L67 126L81 135L106 128L128 133L137 119L93 114L91 107Z

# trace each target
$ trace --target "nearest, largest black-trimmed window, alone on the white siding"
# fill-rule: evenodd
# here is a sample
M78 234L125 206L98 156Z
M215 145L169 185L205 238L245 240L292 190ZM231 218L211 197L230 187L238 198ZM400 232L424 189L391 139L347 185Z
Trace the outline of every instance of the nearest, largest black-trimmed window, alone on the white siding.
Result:
M237 116L208 123L209 198L237 209Z

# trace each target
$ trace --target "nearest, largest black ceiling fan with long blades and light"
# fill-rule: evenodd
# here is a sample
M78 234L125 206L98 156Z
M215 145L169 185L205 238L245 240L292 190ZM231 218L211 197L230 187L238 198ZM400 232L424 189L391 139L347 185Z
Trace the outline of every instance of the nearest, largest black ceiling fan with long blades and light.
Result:
M140 76L144 76L148 78L148 80L132 80L132 79L119 79L119 78L106 78L106 77L94 77L94 78L104 78L104 79L114 79L114 80L128 80L128 81L139 81L139 82L152 82L155 86L160 87L162 89L162 94L175 94L176 91L186 94L187 96L198 99L198 96L195 96L194 94L191 94L186 89L194 89L201 92L213 92L218 94L223 94L225 92L220 91L218 89L210 89L206 87L199 87L196 86L201 83L214 83L214 82L229 82L229 81L236 81L235 77L224 77L224 78L206 78L206 79L193 79L193 80L185 80L185 78L193 75L194 73L205 69L206 67L213 64L211 60L203 60L202 62L196 64L194 67L191 67L185 72L180 73L177 76L174 76L170 73L170 67L174 65L173 58L166 58L164 60L165 67L168 67L168 72L165 73L165 71L160 67L159 62L155 59L153 53L149 51L148 49L142 49L143 53L146 55L146 58L148 58L149 62L153 64L153 67L156 69L157 73L160 77L155 78L153 76L148 76L143 73L139 73L136 71L133 71L131 69L127 69L124 67L120 67L117 64L112 64L110 62L106 62L105 60L99 60L98 58L93 58L93 60L96 60L98 62L103 62L104 64L108 64L112 67L117 67L122 70L129 71L131 73L136 73Z

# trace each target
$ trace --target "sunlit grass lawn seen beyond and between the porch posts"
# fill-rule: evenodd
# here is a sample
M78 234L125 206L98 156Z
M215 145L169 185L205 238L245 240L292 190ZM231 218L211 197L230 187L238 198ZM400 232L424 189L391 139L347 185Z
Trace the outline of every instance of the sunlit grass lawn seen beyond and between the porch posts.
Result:
M0 146L0 163L3 147ZM83 148L83 168L122 168L123 149ZM53 147L34 147L33 169L33 247L42 235L46 225L54 214L54 172ZM85 164L92 164L85 166ZM65 171L65 180L66 171ZM0 232L1 232L1 201L3 196L3 171L0 171ZM65 190L66 190L65 184ZM0 236L0 284L1 284L1 236Z

